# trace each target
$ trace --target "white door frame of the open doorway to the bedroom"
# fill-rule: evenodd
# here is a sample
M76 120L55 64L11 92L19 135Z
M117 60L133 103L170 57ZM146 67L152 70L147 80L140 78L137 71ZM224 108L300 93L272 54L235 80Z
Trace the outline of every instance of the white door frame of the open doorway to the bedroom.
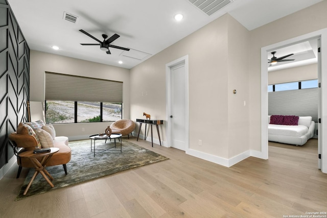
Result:
M323 86L327 84L327 61L323 61L327 60L327 53L323 53L327 51L327 28L261 48L261 158L268 159L268 53L314 38L321 40L321 172L327 173L327 137L323 137L327 131L327 100L323 99L323 96L327 96L327 87Z

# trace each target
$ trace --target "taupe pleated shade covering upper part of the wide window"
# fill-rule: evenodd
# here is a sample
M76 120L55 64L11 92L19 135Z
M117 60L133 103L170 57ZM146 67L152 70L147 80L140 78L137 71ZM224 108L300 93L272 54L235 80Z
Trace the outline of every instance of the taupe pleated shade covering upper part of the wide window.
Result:
M45 100L123 102L123 82L45 72Z

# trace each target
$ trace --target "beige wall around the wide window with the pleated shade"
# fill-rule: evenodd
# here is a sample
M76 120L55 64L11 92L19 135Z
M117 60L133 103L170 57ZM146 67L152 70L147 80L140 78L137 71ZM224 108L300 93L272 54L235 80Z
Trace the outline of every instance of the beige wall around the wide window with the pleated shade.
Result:
M129 118L129 69L31 51L30 101L44 102L45 71L123 82L123 117ZM101 133L109 125L110 123L93 123L57 124L54 126L57 135L65 135L69 137L69 140L73 140L87 138L89 135ZM84 128L85 131L82 131L82 128Z

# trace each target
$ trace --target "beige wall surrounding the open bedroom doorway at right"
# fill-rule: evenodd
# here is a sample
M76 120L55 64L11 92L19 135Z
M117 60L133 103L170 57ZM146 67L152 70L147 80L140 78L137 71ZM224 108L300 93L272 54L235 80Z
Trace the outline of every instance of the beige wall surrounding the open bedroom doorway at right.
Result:
M261 151L261 47L327 27L327 1L250 31L250 147Z

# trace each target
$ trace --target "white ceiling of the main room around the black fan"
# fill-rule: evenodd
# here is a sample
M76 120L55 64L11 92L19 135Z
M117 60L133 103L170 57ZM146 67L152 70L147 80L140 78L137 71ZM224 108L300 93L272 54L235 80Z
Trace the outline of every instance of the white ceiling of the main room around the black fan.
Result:
M321 1L233 0L209 16L189 0L8 0L31 50L124 68L132 68L225 13L253 30ZM64 20L64 12L78 16L78 22ZM184 16L181 21L174 19L178 13ZM80 29L101 41L103 33L119 34L112 44L131 50L110 48L111 55L107 55L99 46L82 46L97 41ZM279 51L276 55L283 56Z

